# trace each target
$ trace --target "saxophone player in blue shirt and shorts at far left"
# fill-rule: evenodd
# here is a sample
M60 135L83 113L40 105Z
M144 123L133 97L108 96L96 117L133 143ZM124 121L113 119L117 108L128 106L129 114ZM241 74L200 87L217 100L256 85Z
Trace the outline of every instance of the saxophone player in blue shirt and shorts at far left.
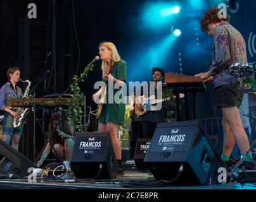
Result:
M7 71L8 82L0 88L0 110L4 111L4 123L3 123L3 141L10 143L11 146L18 150L18 143L23 131L23 124L20 128L13 128L13 119L18 118L16 109L10 109L7 107L7 102L10 98L22 98L22 89L16 84L20 80L20 68L13 67ZM11 138L12 137L12 138Z

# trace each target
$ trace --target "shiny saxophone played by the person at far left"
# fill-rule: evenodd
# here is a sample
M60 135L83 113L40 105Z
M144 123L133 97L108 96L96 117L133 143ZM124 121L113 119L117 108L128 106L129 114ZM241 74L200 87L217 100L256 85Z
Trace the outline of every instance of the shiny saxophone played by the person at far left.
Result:
M20 80L22 81L22 80ZM27 98L28 95L29 95L29 90L30 90L30 85L31 85L31 81L29 80L25 80L25 81L22 81L24 83L28 83L27 85L27 88L23 94L23 97L22 98ZM30 109L29 108L18 108L18 110L16 111L18 113L18 118L13 118L13 128L20 128L20 126L22 126L23 122L25 121L25 116L27 114L29 114L30 112Z

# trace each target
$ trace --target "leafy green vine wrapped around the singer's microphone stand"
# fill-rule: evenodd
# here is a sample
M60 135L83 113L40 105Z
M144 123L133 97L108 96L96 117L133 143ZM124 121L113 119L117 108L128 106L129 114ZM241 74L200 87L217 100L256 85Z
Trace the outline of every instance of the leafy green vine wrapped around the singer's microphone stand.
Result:
M75 128L78 131L82 131L82 107L84 106L84 93L81 92L79 83L84 82L84 78L87 78L89 71L93 71L94 64L90 62L86 68L84 68L84 72L79 76L74 75L72 78L72 84L70 85L70 91L72 94L70 102L68 102L68 109L65 110L66 116L68 120L70 120L69 124L75 125Z

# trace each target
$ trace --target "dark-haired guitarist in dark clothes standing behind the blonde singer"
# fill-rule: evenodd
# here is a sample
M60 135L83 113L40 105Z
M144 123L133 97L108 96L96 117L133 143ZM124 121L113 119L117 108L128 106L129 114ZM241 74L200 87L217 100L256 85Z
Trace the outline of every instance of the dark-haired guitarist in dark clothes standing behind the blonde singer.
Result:
M165 71L162 68L153 68L152 69L152 77L153 81L155 82L155 97L157 98L157 82L162 81L165 76ZM148 92L150 92L148 90ZM141 90L141 93L143 95L143 90ZM148 95L144 95L145 97L148 97ZM143 110L143 105L140 104L139 100L136 98L135 95L133 95L133 100L138 107L139 110ZM165 119L166 110L165 107L162 105L161 110L155 110L155 111L149 111L148 113L141 116L142 118L142 131L143 136L141 138L152 138L153 134L155 133L155 129L157 128L158 122L163 122L163 119Z

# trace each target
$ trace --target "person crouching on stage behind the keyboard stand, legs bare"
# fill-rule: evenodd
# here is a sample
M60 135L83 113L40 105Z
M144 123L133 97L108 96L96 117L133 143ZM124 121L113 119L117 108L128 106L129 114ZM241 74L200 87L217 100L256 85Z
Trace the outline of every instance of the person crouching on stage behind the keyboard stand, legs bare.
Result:
M42 150L37 167L41 167L51 150L61 161L70 161L71 158L74 146L74 129L67 123L65 116L61 116L60 112L52 114L48 128L49 140Z

